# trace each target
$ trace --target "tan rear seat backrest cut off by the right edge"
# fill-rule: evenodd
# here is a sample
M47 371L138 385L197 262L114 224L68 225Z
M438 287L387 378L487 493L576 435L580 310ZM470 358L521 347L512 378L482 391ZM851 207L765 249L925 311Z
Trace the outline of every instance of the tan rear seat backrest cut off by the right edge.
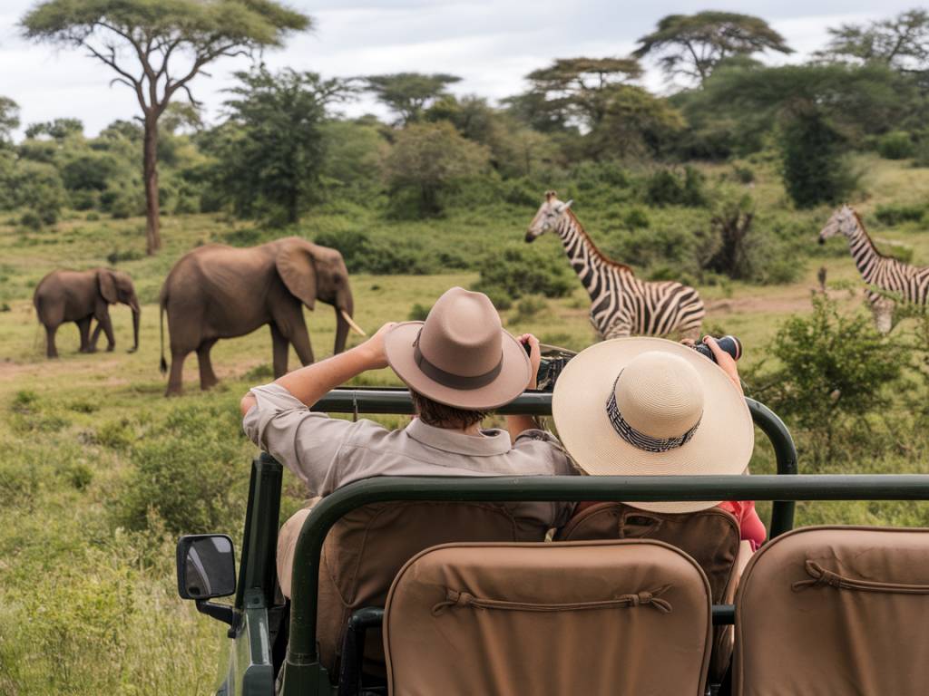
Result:
M794 530L742 575L733 691L924 694L927 625L929 530Z

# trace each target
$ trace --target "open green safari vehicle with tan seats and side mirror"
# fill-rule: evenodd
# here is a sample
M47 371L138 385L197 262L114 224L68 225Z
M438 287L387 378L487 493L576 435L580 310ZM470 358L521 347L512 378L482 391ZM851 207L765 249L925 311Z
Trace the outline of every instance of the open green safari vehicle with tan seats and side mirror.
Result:
M778 475L384 477L347 485L323 498L302 528L289 612L275 578L281 465L262 454L253 463L238 582L228 536L189 535L177 545L181 597L195 600L201 612L229 625L228 671L216 693L922 692L929 677L929 661L919 659L924 657L919 646L925 645L929 618L926 531L791 530L795 500L924 500L929 499L929 477L797 475L790 432L764 405L746 401L755 424L773 445ZM412 412L409 393L402 389L336 389L315 408ZM499 412L550 414L551 394L524 393ZM322 664L318 608L325 539L341 518L362 506L396 501L750 499L774 501L769 540L741 575L735 602L734 592L728 591L732 587L725 600L719 601L718 593L711 597L707 575L696 562L661 541L449 544L426 549L403 566L386 608L353 608L338 673ZM598 563L606 558L623 578L641 576L640 591L607 600L579 599L577 592L585 587L602 594L602 586L596 581L585 585L585 578L602 575ZM504 572L494 575L504 566ZM646 576L662 573L674 580L648 586ZM457 578L472 591L446 588L441 601L424 603L435 591L433 576L444 578L438 585ZM479 596L492 593L492 587L505 594L514 586L517 595L526 586L537 586L549 599L527 603L512 596ZM690 590L692 601L687 599ZM569 600L558 600L563 592L571 594ZM233 593L231 605L211 601ZM465 605L474 612L467 614L471 621L459 611ZM450 623L443 627L440 621ZM562 623L545 623L552 621ZM370 637L382 624L386 681L363 674L366 632ZM546 625L555 628L545 630ZM471 638L478 647L448 654L443 631L450 628L477 631ZM711 663L711 653L726 639L730 650L734 639L735 653L731 666L726 669L726 659L720 669ZM603 669L615 688L592 690L597 675L591 673ZM654 688L652 682L675 672L682 673L675 678L684 679L679 683L687 689Z

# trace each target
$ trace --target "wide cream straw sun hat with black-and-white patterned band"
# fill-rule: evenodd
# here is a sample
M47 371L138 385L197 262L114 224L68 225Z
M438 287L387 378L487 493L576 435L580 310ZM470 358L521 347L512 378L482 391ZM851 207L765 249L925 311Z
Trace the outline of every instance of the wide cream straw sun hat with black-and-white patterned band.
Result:
M712 360L664 339L615 339L577 354L556 381L552 415L588 474L740 474L752 457L752 416L739 390ZM629 505L692 512L718 502Z

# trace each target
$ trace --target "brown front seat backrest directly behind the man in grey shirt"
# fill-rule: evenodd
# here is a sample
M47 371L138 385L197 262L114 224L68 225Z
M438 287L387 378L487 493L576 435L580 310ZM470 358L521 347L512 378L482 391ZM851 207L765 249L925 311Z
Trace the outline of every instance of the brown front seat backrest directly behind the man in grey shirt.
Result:
M383 607L399 569L424 548L453 541L541 541L546 530L499 503L377 503L349 512L326 536L320 566L321 662L337 674L348 617ZM385 674L380 635L366 641L364 669Z

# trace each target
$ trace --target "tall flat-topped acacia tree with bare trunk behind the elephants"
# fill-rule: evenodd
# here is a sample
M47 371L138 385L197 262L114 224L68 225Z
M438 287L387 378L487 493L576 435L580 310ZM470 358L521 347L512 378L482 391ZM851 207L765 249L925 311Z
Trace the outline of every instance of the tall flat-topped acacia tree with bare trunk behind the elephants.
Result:
M136 94L144 125L146 247L161 247L158 119L178 92L217 58L281 45L310 19L274 0L46 0L21 21L33 41L85 48Z

